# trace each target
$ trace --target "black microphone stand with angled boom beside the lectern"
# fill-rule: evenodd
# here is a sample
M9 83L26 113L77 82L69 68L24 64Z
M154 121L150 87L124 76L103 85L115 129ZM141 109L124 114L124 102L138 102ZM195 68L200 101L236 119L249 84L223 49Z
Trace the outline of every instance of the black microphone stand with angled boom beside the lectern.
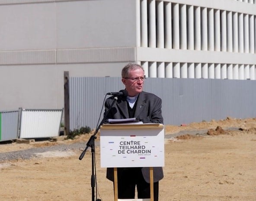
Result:
M81 153L79 160L82 160L86 150L90 147L91 148L91 152L92 152L92 176L91 176L91 187L92 187L92 201L95 201L94 197L95 197L95 192L94 192L94 188L95 188L95 175L94 175L94 150L95 150L95 145L94 145L94 140L96 139L96 134L98 133L101 125L106 121L107 119L107 115L109 114L110 109L112 108L112 106L114 105L114 103L116 102L117 97L115 96L112 104L109 107L109 110L106 112L106 114L104 115L102 121L100 122L99 126L96 128L94 134L90 137L90 139L88 140L88 142L86 143L86 148L83 150L83 152ZM100 199L97 199L96 201L101 201Z

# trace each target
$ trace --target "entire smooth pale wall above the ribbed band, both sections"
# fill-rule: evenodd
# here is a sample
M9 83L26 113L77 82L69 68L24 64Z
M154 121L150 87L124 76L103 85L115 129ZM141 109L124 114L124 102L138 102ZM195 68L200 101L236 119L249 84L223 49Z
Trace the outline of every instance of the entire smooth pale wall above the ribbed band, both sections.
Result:
M135 1L0 4L0 51L136 46Z

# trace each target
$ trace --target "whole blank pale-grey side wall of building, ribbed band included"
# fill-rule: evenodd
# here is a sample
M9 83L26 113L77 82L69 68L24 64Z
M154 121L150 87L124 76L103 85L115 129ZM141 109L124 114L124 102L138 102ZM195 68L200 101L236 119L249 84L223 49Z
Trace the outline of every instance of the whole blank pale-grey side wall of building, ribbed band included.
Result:
M135 62L136 5L136 0L0 0L0 110L62 108L64 71L119 77L125 64Z

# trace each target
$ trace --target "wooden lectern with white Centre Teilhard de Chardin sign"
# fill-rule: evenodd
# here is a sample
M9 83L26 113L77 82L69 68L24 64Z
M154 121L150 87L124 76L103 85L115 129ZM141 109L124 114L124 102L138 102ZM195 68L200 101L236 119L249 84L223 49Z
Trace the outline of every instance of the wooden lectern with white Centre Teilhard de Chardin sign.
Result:
M150 167L150 199L115 201L153 201L153 167L164 166L163 124L103 124L100 131L101 167L114 168L117 189L117 167Z

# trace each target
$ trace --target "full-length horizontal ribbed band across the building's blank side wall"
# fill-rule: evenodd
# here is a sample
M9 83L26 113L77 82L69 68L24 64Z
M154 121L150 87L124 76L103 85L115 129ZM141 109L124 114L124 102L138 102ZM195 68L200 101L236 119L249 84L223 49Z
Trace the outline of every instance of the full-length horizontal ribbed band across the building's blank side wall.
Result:
M135 47L1 51L0 65L130 62Z

